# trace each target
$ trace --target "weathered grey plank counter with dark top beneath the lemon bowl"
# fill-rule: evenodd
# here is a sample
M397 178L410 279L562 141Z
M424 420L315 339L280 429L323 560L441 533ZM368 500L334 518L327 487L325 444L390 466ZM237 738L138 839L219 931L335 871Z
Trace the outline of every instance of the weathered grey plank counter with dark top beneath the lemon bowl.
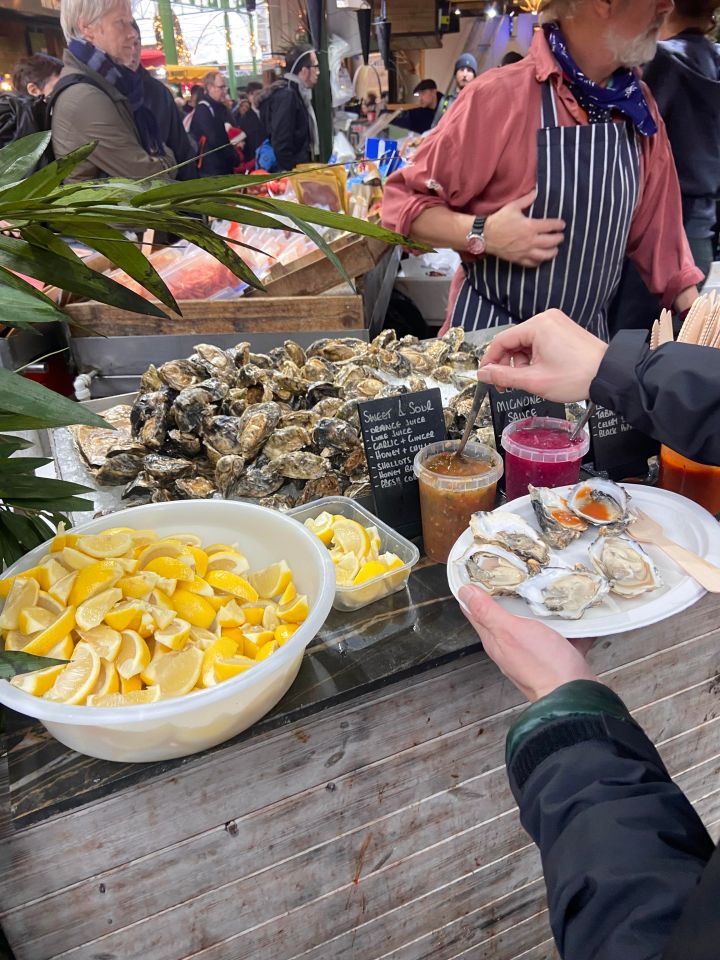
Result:
M719 646L706 596L590 654L713 835ZM550 960L503 762L523 707L424 565L333 613L273 713L206 753L111 764L14 717L0 921L17 960Z

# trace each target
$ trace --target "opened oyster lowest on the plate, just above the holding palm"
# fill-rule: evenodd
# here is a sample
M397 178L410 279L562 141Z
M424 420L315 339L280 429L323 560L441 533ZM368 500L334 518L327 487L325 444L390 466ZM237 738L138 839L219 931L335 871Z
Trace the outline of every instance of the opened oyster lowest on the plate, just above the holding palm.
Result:
M519 584L515 592L539 617L579 620L585 611L600 603L610 584L598 573L569 567L546 567Z

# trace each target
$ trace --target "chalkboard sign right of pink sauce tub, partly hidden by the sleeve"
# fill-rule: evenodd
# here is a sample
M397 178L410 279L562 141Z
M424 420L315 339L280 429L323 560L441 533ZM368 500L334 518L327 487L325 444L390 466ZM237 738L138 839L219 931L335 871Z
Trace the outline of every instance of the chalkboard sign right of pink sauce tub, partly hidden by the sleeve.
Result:
M660 451L660 444L631 427L619 413L598 407L590 417L590 453L596 472L611 480L644 477L648 457Z

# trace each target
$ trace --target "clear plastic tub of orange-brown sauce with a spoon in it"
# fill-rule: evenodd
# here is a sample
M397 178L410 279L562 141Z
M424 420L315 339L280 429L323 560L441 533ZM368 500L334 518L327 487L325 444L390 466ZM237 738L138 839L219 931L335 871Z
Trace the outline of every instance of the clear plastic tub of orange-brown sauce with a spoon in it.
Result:
M443 440L415 455L413 470L420 489L420 515L426 555L445 563L457 538L478 510L495 506L502 459L482 443L468 443L456 457L459 440Z

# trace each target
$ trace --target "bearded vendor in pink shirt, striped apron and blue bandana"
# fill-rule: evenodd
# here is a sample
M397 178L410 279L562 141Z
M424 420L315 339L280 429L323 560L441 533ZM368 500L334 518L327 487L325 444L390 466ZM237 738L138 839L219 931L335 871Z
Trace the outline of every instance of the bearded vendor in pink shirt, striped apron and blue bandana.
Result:
M545 0L519 63L483 73L388 180L386 226L463 259L450 323L552 307L603 340L625 255L663 306L697 296L680 191L637 67L672 0ZM452 162L448 162L448 158Z

